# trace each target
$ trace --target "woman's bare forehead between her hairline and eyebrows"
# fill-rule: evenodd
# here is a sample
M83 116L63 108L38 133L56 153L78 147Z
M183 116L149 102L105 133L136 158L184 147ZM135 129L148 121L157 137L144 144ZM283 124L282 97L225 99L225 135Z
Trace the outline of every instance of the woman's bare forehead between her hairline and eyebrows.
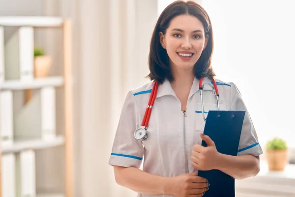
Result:
M187 32L195 30L202 30L204 32L204 26L202 22L192 15L179 15L170 21L168 31L173 29L180 29Z

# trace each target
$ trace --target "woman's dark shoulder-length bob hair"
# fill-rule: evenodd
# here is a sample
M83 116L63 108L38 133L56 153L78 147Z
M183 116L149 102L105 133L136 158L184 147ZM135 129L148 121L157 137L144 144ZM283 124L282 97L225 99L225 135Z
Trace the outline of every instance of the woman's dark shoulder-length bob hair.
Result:
M160 43L160 32L165 35L171 20L178 15L183 14L197 17L204 26L205 36L208 35L207 46L203 50L199 60L194 66L195 76L198 79L200 79L202 76L207 76L209 78L216 76L211 66L211 58L213 53L213 32L211 21L207 12L201 5L192 0L177 0L168 5L161 13L150 40L150 49L148 55L148 66L150 73L147 77L150 80L157 81L159 84L162 84L165 79L168 79L169 81L175 80L170 68L167 51L161 46Z

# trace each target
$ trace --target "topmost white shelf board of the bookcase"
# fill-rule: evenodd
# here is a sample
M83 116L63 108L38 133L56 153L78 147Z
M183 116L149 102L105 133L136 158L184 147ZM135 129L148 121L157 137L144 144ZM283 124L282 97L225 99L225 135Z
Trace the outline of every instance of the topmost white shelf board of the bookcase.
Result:
M63 20L60 17L46 16L1 16L0 26L11 27L61 27Z

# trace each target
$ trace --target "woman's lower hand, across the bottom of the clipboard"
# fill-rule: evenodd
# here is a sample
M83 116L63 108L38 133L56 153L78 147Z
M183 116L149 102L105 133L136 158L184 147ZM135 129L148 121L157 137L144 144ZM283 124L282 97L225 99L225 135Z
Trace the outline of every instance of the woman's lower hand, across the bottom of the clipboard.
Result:
M176 197L203 197L210 184L197 175L198 172L192 172L169 178L166 193Z

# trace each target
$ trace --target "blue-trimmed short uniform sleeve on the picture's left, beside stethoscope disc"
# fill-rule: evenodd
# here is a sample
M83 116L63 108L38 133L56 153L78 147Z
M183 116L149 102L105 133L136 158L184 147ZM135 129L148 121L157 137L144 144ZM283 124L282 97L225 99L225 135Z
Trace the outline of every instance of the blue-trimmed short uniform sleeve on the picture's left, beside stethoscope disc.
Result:
M124 101L118 128L116 131L110 165L139 168L144 154L143 143L134 138L134 131L139 127L138 107L131 91Z

